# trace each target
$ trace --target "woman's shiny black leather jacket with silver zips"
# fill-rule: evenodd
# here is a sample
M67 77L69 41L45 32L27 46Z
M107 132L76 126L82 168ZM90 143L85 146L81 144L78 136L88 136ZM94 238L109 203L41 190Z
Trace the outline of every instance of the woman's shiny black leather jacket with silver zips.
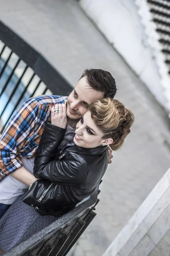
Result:
M91 195L108 166L108 148L74 145L56 155L65 129L46 124L34 161L34 176L23 202L40 215L63 215Z

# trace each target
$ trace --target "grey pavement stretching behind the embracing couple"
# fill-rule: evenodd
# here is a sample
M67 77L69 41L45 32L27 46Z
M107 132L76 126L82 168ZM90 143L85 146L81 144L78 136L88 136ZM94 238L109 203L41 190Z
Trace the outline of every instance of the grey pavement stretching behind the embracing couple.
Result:
M0 0L0 18L36 48L74 86L86 67L108 70L116 95L135 114L131 133L113 154L100 186L97 215L74 256L101 256L170 166L169 121L76 0ZM125 42L126 43L126 42ZM140 61L140 60L139 60Z

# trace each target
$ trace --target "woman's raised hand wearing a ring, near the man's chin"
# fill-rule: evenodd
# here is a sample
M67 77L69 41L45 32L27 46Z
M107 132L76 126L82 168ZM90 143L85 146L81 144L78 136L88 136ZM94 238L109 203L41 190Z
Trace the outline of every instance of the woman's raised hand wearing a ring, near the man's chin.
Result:
M58 109L58 113L54 110ZM51 108L51 125L56 125L60 128L65 129L67 127L67 108L65 104L56 104L55 107Z

